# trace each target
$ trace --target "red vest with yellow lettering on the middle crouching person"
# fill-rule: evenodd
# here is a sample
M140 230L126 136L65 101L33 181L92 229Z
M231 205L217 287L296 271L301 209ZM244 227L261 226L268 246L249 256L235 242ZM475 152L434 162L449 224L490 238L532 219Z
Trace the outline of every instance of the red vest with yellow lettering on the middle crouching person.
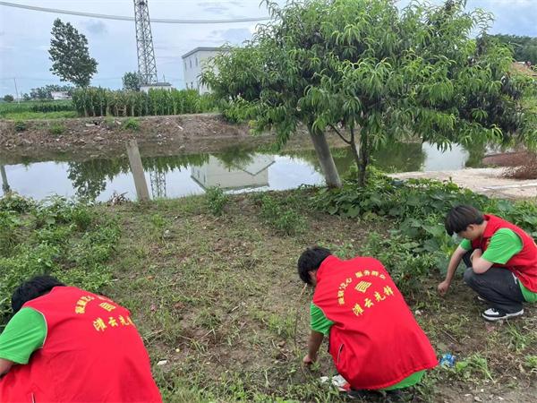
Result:
M334 322L328 351L356 390L379 390L438 364L429 339L376 259L328 256L317 271L316 304Z

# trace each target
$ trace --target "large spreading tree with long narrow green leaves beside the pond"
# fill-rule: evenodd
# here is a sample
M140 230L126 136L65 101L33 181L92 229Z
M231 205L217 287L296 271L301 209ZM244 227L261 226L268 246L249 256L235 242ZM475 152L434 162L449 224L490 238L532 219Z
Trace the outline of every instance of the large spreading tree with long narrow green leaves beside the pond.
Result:
M360 184L371 153L389 141L535 142L535 116L520 102L529 79L510 72L510 50L486 34L490 14L466 12L465 0L268 6L272 20L246 47L215 57L203 80L227 112L276 129L282 143L299 123L312 138L336 132Z

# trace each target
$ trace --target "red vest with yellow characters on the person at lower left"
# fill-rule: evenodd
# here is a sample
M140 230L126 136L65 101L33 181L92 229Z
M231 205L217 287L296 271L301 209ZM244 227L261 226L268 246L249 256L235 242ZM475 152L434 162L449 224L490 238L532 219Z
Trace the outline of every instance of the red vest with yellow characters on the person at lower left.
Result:
M0 380L7 402L162 402L130 313L75 287L24 304L42 313L47 339Z

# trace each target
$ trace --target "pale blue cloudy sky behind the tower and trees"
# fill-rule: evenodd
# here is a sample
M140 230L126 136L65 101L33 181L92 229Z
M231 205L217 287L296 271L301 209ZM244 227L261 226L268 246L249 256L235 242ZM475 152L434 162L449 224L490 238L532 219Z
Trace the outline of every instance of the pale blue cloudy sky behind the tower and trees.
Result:
M409 0L400 0L404 6ZM432 3L439 3L433 0ZM11 3L88 13L133 15L132 0L11 0ZM279 4L285 1L278 1ZM468 8L494 13L493 33L537 37L537 0L468 0ZM260 0L149 0L151 18L230 19L266 16ZM123 73L136 71L134 22L38 13L0 6L0 95L14 94L13 77L20 92L45 84L61 83L48 69L50 30L56 17L71 22L84 33L90 54L98 61L93 85L121 87ZM249 39L255 23L212 25L153 24L159 79L183 88L181 56L194 47L240 44Z

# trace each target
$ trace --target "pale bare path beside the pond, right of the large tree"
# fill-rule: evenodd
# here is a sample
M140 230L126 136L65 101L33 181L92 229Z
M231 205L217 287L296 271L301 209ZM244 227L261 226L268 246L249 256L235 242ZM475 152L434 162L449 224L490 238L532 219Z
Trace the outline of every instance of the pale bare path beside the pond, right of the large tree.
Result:
M537 179L508 179L502 176L505 168L468 168L458 171L405 172L390 176L399 179L427 178L453 181L476 193L507 199L537 197Z

